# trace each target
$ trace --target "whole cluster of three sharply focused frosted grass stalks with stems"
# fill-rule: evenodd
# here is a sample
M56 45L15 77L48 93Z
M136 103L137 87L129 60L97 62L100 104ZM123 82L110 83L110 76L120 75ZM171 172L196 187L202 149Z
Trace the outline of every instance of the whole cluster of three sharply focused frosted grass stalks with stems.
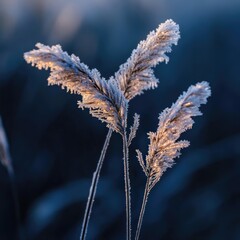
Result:
M38 43L37 49L24 54L25 60L32 66L38 69L50 69L49 85L59 85L71 93L80 95L82 99L78 102L78 106L88 108L90 114L106 123L109 129L92 177L80 234L81 240L87 237L98 180L113 132L122 137L126 239L130 240L132 237L129 147L136 137L140 116L134 115L133 125L128 129L128 106L135 96L158 86L159 82L154 76L153 68L160 62L169 61L166 54L171 52L172 45L177 45L179 38L179 26L174 21L167 20L160 24L138 44L126 63L121 65L118 72L109 80L101 77L96 69L90 70L75 55L64 52L60 45L49 47ZM192 127L194 123L192 117L201 115L199 107L207 102L210 94L207 82L190 86L170 108L166 108L160 114L156 132L148 133L150 144L145 160L142 153L136 150L138 161L146 175L146 187L135 234L136 240L140 237L145 207L151 189L160 180L163 172L174 164L174 159L179 157L180 150L189 146L188 141L178 141L178 139L182 132ZM6 158L2 157L2 159L2 163L8 165Z

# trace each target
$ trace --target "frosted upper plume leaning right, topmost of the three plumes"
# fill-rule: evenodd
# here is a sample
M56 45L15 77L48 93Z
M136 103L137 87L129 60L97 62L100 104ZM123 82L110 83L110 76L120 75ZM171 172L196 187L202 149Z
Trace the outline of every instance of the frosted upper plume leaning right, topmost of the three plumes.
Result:
M179 26L170 19L160 24L155 31L149 33L146 40L138 44L131 57L115 74L127 99L157 87L158 79L152 68L159 62L169 61L166 53L171 52L171 46L177 45L179 38Z

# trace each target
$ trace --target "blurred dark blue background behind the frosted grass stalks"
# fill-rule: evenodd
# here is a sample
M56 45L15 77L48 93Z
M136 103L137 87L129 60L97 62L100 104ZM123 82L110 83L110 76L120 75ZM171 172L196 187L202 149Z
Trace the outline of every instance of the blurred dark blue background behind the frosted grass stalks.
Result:
M145 185L135 149L182 91L209 81L212 96L183 139L191 146L150 194L141 239L240 239L240 1L1 0L0 115L9 140L29 240L79 238L92 173L107 128L76 95L48 87L48 72L23 53L36 42L61 44L109 78L138 42L172 18L181 39L155 70L159 87L130 103L141 125L130 149L135 233ZM122 143L114 134L103 166L88 239L125 239ZM16 239L13 199L0 166L0 239Z

